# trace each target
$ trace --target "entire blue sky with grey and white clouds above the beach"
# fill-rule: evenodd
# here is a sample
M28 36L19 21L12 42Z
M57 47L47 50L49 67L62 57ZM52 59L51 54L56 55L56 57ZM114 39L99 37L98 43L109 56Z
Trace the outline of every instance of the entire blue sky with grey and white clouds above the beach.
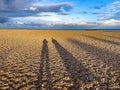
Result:
M0 0L0 28L120 29L120 0Z

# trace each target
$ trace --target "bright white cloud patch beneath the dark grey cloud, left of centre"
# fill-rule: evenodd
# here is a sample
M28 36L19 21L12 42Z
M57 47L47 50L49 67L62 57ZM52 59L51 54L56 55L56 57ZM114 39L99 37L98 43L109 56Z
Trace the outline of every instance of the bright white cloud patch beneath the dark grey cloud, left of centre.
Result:
M60 22L61 19L55 13L39 13L38 15L34 16L27 16L27 17L14 17L12 18L11 22L23 22L26 24L34 23L34 24L51 24L55 22ZM16 23L19 24L19 23Z

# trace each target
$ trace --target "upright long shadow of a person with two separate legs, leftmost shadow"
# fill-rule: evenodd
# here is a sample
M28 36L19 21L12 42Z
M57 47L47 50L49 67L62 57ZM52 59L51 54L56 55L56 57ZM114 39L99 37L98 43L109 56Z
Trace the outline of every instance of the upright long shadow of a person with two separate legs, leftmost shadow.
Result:
M50 70L50 64L49 64L49 53L48 53L48 45L47 45L47 40L43 40L43 46L42 46L42 51L41 51L41 60L40 60L40 70L38 74L38 81L37 81L37 90L42 89L42 78L43 78L43 73L44 73L44 67L45 67L45 72L46 72L46 79L47 79L47 90L52 90L52 80L51 80L51 70Z

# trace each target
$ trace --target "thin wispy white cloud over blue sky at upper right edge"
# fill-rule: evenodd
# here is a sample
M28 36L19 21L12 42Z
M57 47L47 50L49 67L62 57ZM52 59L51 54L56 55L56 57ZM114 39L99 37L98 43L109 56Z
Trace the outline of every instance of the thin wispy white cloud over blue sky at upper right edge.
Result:
M98 14L99 18L102 20L120 20L120 1L115 1L111 4L108 4L107 6L99 9L99 11L94 14Z

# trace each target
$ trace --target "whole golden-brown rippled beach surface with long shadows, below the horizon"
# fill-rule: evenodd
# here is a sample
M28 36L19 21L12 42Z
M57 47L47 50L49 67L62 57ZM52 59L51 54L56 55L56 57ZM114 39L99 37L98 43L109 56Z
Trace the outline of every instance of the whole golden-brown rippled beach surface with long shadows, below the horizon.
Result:
M119 90L120 31L0 30L0 90Z

